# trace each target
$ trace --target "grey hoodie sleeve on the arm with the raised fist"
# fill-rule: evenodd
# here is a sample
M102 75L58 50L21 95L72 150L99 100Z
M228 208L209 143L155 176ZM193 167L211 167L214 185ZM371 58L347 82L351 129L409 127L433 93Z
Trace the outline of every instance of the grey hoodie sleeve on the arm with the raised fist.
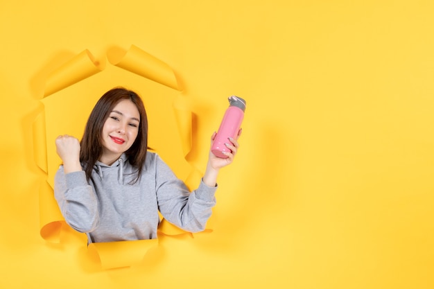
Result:
M73 229L89 233L98 227L98 201L83 170L65 174L60 166L55 174L54 196L65 221Z

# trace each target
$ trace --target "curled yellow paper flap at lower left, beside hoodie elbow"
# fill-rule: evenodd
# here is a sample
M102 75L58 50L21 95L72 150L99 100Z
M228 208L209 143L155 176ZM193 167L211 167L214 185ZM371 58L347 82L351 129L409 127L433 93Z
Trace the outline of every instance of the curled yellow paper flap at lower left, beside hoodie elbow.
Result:
M40 234L52 243L60 242L60 229L64 218L55 202L53 189L48 182L40 185Z

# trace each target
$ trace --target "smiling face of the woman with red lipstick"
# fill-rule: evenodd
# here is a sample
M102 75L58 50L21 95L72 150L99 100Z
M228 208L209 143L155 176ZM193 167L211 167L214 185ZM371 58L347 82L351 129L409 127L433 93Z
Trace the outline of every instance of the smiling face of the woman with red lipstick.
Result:
M121 100L105 120L102 132L103 154L99 161L111 165L134 143L139 132L140 114L131 100Z

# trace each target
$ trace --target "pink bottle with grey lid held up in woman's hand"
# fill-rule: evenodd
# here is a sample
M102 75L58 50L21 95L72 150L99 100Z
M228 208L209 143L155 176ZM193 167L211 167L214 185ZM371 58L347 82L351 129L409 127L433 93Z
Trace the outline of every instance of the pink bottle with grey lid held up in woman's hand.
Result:
M211 152L223 159L226 159L227 155L224 155L222 152L231 152L225 143L231 143L229 137L236 139L241 128L241 123L243 122L245 111L245 100L243 100L243 98L230 96L228 100L229 107L225 112L225 116L223 116L220 128L218 128L216 138L211 146Z

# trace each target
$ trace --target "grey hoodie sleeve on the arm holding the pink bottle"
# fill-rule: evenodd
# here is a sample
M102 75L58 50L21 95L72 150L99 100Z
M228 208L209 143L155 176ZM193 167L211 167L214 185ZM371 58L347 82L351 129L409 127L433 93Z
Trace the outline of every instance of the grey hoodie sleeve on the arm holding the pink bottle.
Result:
M157 202L162 216L185 231L203 231L216 205L217 186L209 187L201 181L198 189L190 193L158 155L155 162Z

